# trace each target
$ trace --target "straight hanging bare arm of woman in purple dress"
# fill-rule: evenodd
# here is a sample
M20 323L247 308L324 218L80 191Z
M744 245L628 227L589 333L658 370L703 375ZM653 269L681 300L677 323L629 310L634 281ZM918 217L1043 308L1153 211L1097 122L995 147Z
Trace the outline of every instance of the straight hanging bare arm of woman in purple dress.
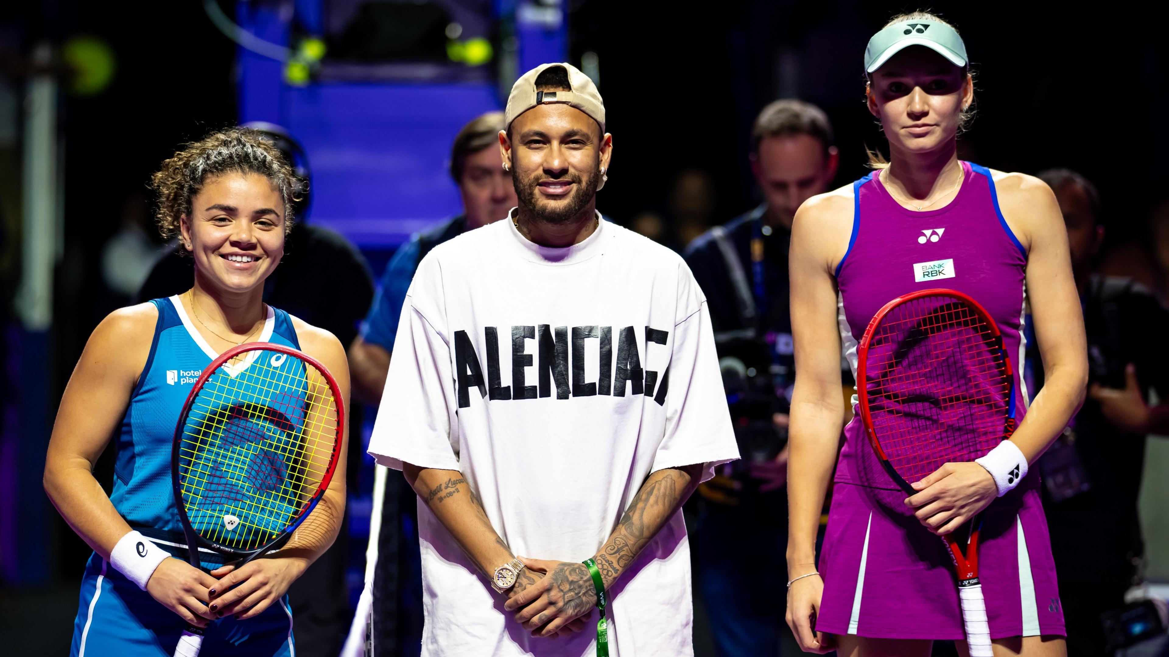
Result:
M816 572L816 532L839 448L845 404L833 269L848 248L851 189L817 196L796 213L789 274L791 334L800 373L788 428L788 578ZM804 578L789 590L788 624L805 651L825 651L811 629L823 581Z

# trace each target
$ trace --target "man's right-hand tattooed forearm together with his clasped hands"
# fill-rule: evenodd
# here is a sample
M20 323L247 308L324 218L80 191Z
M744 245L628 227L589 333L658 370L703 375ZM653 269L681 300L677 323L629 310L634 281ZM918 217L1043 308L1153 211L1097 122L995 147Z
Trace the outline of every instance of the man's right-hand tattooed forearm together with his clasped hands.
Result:
M645 479L617 528L593 556L606 590L698 487L701 469L703 464L665 468ZM528 569L547 573L547 576L513 596L504 608L514 611L523 607L516 621L533 634L551 636L596 606L596 586L583 563L538 559L524 559L524 563Z

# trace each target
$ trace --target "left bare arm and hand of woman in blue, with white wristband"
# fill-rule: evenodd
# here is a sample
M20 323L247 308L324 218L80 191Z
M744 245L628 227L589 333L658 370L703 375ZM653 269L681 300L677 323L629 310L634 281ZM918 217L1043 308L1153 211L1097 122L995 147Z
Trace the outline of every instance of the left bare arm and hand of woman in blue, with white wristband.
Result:
M131 527L94 477L94 463L118 428L146 365L158 311L140 304L110 313L94 330L61 397L44 459L44 492L94 552L110 552ZM146 590L188 623L215 616L206 603L215 579L179 559L165 559Z

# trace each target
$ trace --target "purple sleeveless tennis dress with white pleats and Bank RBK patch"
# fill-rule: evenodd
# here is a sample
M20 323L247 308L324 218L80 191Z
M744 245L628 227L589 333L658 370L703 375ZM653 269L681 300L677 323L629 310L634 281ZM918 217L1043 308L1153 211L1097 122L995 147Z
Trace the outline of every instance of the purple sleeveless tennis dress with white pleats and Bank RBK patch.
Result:
M990 172L961 164L966 175L957 196L933 210L901 207L877 175L853 184L852 236L836 269L841 336L856 373L857 343L883 305L928 288L966 292L1003 333L1022 421L1026 254L998 209ZM824 596L816 629L874 638L964 638L949 551L901 504L906 496L876 464L859 415L844 433L818 562ZM1065 634L1038 485L1032 471L983 517L978 565L992 638Z

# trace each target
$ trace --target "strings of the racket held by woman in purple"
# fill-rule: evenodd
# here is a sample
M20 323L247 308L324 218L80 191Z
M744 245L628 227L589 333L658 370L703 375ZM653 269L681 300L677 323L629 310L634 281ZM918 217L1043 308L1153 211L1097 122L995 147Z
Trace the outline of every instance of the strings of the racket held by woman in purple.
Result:
M874 437L906 482L973 461L1003 437L1011 382L1001 340L961 299L893 307L870 337L865 379ZM888 482L870 461L867 476Z

